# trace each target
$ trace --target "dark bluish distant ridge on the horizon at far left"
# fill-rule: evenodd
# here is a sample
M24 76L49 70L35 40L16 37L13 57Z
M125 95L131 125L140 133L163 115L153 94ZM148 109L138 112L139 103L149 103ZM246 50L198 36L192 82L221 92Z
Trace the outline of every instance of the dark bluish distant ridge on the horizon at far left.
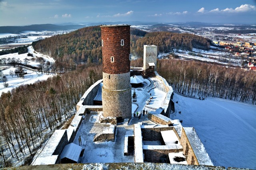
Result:
M26 26L1 26L0 33L21 33L23 31L58 31L80 29L85 25L54 25L54 24L36 24Z

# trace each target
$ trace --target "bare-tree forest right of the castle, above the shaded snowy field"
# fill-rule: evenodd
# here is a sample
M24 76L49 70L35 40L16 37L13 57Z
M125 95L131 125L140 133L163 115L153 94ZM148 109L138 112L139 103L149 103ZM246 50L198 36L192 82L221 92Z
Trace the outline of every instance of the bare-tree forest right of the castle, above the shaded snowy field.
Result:
M176 59L159 60L157 68L158 73L180 94L256 104L255 72Z

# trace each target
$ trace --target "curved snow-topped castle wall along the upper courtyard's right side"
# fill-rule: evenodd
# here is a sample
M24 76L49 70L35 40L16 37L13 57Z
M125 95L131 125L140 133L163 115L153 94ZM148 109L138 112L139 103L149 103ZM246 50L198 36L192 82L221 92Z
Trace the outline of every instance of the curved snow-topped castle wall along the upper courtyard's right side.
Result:
M172 102L172 98L173 98L173 89L172 86L169 86L168 82L166 82L166 80L164 78L162 78L162 76L160 76L156 71L156 78L160 81L163 82L163 86L166 89L167 95L166 98L164 100L164 105L162 106L162 108L164 109L164 113L166 117L169 117L171 111L174 111L174 103Z

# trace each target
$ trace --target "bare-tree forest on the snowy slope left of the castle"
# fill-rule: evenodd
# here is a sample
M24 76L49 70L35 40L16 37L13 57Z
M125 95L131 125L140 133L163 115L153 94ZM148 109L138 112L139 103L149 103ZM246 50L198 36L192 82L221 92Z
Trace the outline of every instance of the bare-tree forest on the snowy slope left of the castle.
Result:
M101 66L88 66L3 93L0 165L29 164L48 134L72 116L84 92L101 78Z

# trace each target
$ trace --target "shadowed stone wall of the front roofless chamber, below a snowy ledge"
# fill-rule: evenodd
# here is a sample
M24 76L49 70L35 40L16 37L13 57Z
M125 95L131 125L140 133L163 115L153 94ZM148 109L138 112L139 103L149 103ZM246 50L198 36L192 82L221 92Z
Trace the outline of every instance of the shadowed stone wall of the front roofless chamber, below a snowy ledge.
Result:
M166 157L166 160L168 160L168 153L180 152L182 150L183 149L154 149L154 150L143 149L144 161L160 163L161 157Z

